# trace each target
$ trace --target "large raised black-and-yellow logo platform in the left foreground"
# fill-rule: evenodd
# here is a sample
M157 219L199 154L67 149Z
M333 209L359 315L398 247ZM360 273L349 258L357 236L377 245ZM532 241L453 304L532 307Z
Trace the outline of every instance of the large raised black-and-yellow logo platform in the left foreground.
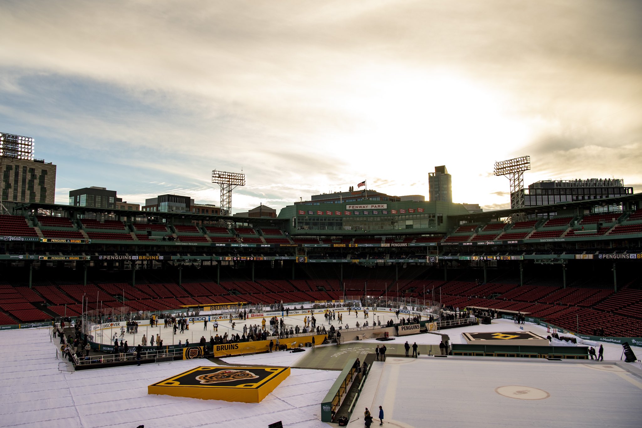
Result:
M257 403L289 375L289 367L202 366L152 384L147 393Z

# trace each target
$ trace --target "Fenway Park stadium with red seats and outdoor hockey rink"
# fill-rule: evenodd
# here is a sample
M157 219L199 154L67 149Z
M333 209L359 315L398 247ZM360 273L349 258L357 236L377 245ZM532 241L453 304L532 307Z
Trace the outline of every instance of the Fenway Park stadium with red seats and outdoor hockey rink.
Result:
M642 194L365 192L277 217L14 205L1 425L637 425Z

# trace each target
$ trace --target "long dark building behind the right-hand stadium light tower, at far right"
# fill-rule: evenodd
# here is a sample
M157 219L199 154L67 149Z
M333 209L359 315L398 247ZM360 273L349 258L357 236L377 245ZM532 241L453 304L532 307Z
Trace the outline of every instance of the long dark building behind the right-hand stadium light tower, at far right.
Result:
M588 178L586 180L542 180L524 189L525 207L569 201L599 200L633 194L621 178Z

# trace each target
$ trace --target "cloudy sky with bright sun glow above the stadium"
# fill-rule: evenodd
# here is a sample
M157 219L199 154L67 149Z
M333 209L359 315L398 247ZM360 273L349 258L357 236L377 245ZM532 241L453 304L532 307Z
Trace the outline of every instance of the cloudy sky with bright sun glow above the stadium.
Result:
M525 184L623 178L642 191L642 2L76 1L0 3L0 132L58 166L56 203L123 200L232 211L312 194L425 194L510 207Z

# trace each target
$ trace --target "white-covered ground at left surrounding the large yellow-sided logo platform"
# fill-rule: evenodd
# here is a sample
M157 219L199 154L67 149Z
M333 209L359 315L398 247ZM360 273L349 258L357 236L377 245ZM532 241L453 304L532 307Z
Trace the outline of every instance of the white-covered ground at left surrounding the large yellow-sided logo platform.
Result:
M207 360L65 373L58 372L58 341L49 341L49 329L5 330L0 343L0 427L266 427L279 420L288 427L326 427L318 416L320 402L339 374L292 369L258 404L196 400L148 395L147 386L213 364ZM254 364L287 366L303 354L255 355Z

